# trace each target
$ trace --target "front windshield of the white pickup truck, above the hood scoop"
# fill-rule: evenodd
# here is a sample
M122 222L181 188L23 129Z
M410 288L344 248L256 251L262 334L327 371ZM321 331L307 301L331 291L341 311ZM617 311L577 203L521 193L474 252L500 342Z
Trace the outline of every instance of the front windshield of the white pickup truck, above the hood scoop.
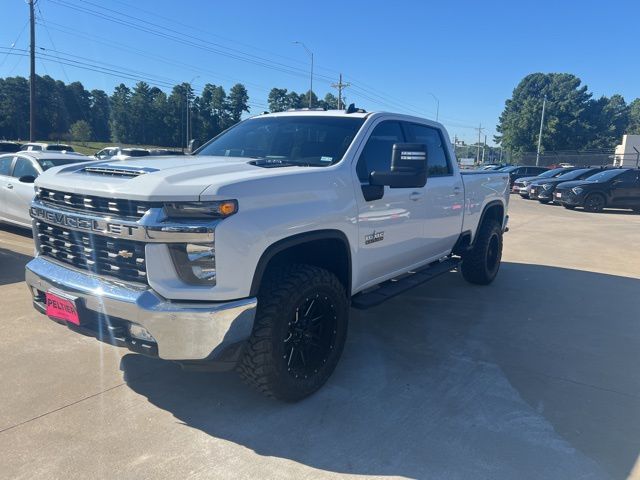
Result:
M196 155L246 157L265 165L328 166L339 162L364 118L282 116L245 120Z

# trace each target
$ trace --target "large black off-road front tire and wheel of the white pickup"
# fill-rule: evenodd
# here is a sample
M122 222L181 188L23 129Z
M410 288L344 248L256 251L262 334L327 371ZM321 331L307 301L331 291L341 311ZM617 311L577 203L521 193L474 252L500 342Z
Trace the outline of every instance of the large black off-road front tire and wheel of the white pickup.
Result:
M314 299L317 299L317 304ZM287 339L291 338L292 330L298 325L299 313L296 312L300 312L301 305L302 310L306 310L309 304L309 311L322 306L329 314L326 320L319 321L323 324L319 327L323 332L319 343L326 345L322 350L325 353L309 355L317 369L306 372L306 363L304 367L292 369L294 350L292 347L289 352L292 343L287 344ZM238 373L246 383L267 396L286 402L302 400L322 387L333 373L342 354L348 323L349 302L344 286L334 274L305 264L277 268L268 274L258 294L253 333L238 364ZM318 326L315 328L314 332L317 332ZM312 334L300 335L298 331L295 334L299 342L313 343L313 340L308 340ZM298 351L295 361L301 364Z

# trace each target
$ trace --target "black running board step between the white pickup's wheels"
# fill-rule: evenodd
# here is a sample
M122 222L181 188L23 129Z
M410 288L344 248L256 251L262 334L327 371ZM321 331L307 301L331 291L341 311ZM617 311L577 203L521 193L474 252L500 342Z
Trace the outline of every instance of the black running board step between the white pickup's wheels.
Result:
M396 295L400 295L413 287L428 282L443 273L450 272L459 266L459 258L448 258L442 262L430 263L419 270L406 273L397 278L392 278L370 290L358 293L351 299L351 306L359 310L375 307Z

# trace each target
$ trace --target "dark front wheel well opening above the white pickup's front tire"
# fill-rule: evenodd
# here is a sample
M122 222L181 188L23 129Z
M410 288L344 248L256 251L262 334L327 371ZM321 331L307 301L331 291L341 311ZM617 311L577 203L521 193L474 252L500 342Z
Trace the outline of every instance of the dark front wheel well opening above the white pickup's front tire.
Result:
M257 296L269 272L290 264L307 264L333 273L351 295L351 251L346 236L339 231L300 234L280 240L262 255L251 283L251 296Z

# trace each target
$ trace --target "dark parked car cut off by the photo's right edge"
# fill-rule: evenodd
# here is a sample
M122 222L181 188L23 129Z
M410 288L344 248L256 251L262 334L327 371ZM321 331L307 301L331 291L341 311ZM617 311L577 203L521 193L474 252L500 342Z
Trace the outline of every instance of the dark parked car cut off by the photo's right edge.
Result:
M554 201L565 208L584 207L588 212L604 208L631 208L640 212L640 170L614 168L556 187Z

